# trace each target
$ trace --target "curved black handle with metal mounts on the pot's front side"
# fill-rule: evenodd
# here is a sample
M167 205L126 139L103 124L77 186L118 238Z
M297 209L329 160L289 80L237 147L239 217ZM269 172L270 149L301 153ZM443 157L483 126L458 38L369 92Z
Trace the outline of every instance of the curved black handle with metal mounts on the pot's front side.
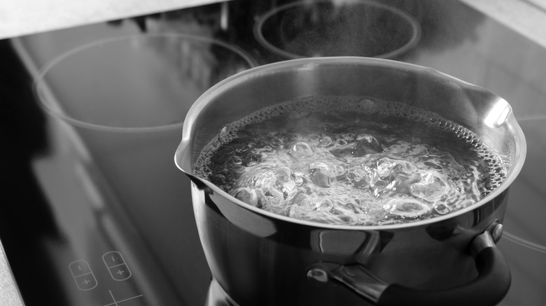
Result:
M471 250L475 254L478 277L451 289L424 291L386 284L362 265L320 263L311 267L307 277L314 282L336 279L377 306L496 305L510 289L510 268L489 231L472 240Z

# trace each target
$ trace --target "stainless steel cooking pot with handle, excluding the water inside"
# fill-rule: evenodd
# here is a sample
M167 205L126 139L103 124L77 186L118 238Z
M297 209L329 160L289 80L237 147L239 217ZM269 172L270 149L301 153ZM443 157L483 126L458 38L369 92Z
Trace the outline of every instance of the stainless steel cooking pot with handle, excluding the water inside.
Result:
M499 152L507 175L491 194L441 217L340 226L260 210L194 175L225 125L307 96L371 96L436 112ZM238 305L494 305L510 287L496 248L526 143L509 103L431 68L388 59L321 57L251 68L211 87L188 111L176 165L192 180L212 275Z

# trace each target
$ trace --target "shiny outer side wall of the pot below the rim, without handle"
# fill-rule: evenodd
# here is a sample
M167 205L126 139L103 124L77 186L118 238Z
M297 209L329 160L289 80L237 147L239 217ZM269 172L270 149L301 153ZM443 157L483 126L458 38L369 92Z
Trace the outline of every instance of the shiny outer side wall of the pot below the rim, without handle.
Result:
M312 282L315 263L362 265L391 284L449 289L476 277L469 245L502 220L507 191L475 210L423 226L337 230L256 214L193 184L200 239L213 277L239 305L368 305L342 284Z

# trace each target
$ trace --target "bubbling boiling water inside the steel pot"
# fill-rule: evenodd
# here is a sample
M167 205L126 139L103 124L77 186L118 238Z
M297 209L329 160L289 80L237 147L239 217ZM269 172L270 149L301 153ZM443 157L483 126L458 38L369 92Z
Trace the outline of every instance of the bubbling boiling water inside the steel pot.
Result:
M263 210L330 224L428 219L505 177L475 133L433 112L361 97L312 97L224 126L195 173Z

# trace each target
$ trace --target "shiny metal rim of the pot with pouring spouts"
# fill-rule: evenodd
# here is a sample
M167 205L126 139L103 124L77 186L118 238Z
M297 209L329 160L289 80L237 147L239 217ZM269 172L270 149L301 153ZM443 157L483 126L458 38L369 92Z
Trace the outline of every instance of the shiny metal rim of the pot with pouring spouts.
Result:
M191 156L192 156L191 149L192 148L190 145L191 144L190 136L193 133L195 118L191 115L194 113L202 112L204 108L207 107L209 101L214 100L216 96L221 95L223 92L231 89L232 87L237 87L237 85L240 85L241 83L246 82L246 80L248 79L255 78L256 75L274 73L275 71L278 71L279 69L282 69L282 68L287 68L287 67L294 68L295 66L299 66L300 68L305 69L305 68L312 68L313 66L317 66L318 64L342 64L342 63L344 64L369 63L369 64L374 64L377 66L389 66L389 67L402 69L405 71L414 71L421 74L434 75L435 78L441 78L443 80L455 82L457 85L461 86L461 89L486 93L486 94L489 94L490 96L495 97L496 99L500 99L504 101L502 97L491 92L489 89L484 89L483 87L472 85L469 82L465 82L451 75L447 75L446 73L437 71L433 68L419 66L416 64L410 64L410 63L406 63L402 61L394 61L391 59L378 59L378 58L372 58L372 57L311 57L311 58L304 58L304 59L290 59L287 61L279 61L272 64L265 64L262 66L250 68L246 71L242 71L240 73L232 75L229 78L226 78L225 80L222 80L221 82L218 82L216 85L214 85L209 90L207 90L207 92L204 92L204 94L202 94L202 96L200 96L200 98L197 99L197 101L195 101L195 103L192 105L190 110L188 110L188 114L186 115L186 119L184 120L182 140L174 156L176 166L180 170L182 170L184 173L194 176L193 165L191 165ZM521 168L524 165L524 161L526 157L526 150L527 150L526 140L525 140L524 133L521 130L521 127L519 126L517 120L514 117L514 113L512 112L511 105L508 104L507 102L506 104L507 104L507 110L509 110L509 113L506 116L506 121L509 121L511 123L511 126L512 126L511 131L514 134L514 137L516 139L517 150L515 150L514 162L510 165L510 170L507 173L505 180L503 180L500 186L498 186L495 190L493 190L491 194L488 194L487 196L477 201L476 203L468 207L464 207L461 210L457 210L455 212L449 212L442 216L433 217L430 219L419 220L419 221L409 221L402 224L386 224L386 225L374 225L374 226L323 224L323 223L314 222L314 221L295 219L292 217L287 217L281 214L275 214L273 212L262 210L261 208L254 207L253 205L245 203L235 198L234 196L231 196L227 192L223 191L220 187L217 187L215 184L212 184L208 180L204 180L202 178L199 178L199 180L204 182L204 184L207 184L207 187L209 187L212 191L214 191L214 193L219 194L220 196L223 196L224 198L228 198L230 201L237 203L237 205L244 207L247 210L251 210L253 212L265 215L273 219L279 219L281 221L287 221L290 223L300 224L302 226L312 226L316 228L328 228L328 229L350 230L350 231L377 231L377 230L391 230L391 229L401 229L401 228L414 228L419 226L426 226L429 224L435 224L440 221L445 221L451 218L461 216L462 214L471 212L472 210L475 210L477 207L480 207L488 203L489 201L493 200L493 198L500 196L500 194L506 191L508 187L510 187L510 184L514 182L517 175L519 175L519 172L521 171ZM186 163L184 163L184 159L186 159Z

